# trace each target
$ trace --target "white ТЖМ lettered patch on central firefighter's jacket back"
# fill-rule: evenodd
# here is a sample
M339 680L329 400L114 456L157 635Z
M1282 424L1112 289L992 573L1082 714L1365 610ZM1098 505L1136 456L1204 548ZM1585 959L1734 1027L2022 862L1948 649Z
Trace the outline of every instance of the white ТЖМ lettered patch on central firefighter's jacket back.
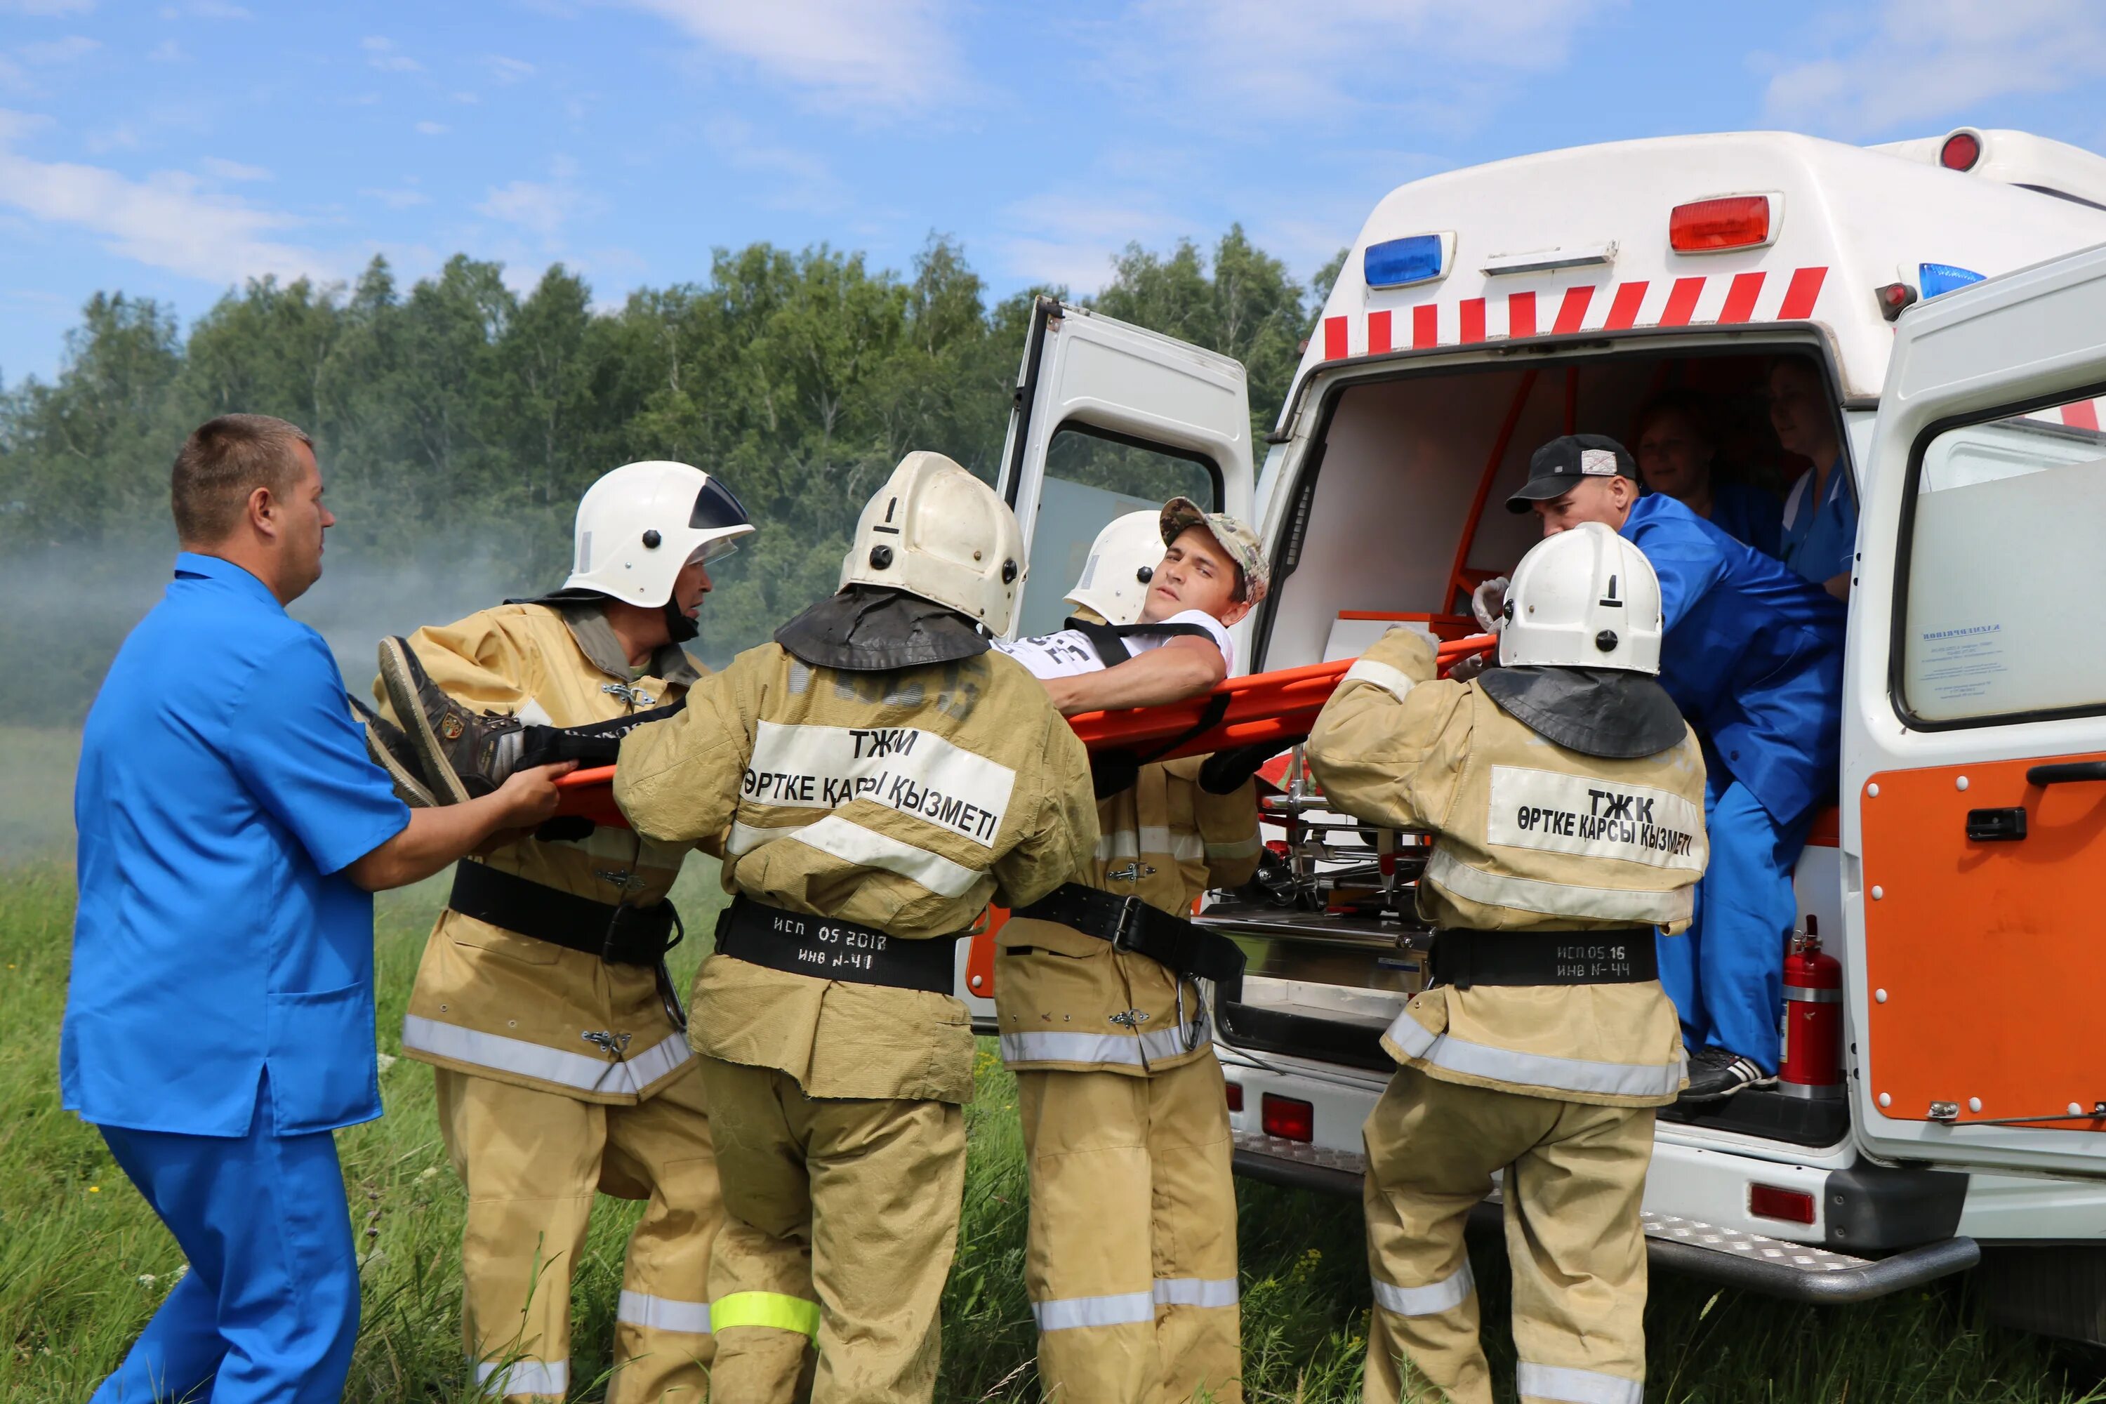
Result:
M1015 785L1009 766L916 726L760 722L739 798L796 808L870 800L992 848Z

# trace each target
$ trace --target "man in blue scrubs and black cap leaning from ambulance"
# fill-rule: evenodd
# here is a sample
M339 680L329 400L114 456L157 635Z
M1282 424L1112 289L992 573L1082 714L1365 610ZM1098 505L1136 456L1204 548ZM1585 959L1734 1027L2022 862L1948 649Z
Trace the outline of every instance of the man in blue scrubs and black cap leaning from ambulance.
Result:
M1546 537L1603 522L1660 575L1660 682L1704 741L1708 773L1695 920L1660 941L1660 983L1689 1042L1683 1101L1775 1082L1792 865L1836 785L1843 606L1666 493L1641 497L1638 465L1601 434L1537 448L1506 509L1533 509Z

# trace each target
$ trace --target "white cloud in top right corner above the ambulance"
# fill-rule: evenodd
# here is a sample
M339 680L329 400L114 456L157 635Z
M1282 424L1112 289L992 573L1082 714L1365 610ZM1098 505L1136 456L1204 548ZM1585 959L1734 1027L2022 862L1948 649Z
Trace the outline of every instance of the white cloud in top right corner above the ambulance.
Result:
M1887 0L1876 15L1847 13L1830 48L1775 67L1763 97L1767 120L1849 139L1916 135L2001 97L2106 78L2106 6Z

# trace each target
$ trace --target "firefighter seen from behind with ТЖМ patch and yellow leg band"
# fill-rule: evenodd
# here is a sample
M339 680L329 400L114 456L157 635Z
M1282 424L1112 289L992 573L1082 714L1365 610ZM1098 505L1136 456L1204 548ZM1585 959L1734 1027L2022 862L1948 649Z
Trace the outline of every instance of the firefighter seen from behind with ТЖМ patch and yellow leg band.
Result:
M615 802L722 836L731 907L693 1042L724 1185L710 1263L718 1400L929 1400L965 1194L973 1034L956 937L1082 871L1089 760L981 627L1024 547L986 484L908 455L842 589L621 743Z

